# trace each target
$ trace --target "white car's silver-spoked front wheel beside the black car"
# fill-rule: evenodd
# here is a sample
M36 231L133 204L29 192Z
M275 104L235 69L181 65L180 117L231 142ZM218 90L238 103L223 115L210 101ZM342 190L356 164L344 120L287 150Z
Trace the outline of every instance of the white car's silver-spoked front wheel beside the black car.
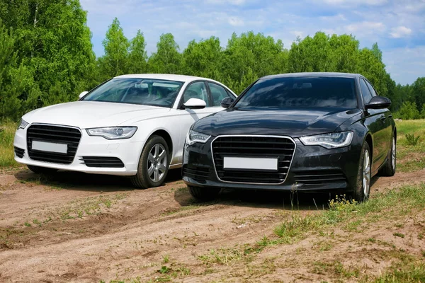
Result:
M130 177L132 185L147 189L164 184L169 171L169 162L169 147L165 139L160 136L150 137L140 155L137 174Z

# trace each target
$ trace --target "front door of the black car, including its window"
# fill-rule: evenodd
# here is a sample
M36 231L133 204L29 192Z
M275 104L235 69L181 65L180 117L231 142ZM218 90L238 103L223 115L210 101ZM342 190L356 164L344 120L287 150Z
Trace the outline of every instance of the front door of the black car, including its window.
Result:
M363 105L365 105L373 96L363 78L360 79L360 88ZM385 160L385 111L382 109L365 110L365 127L369 129L373 139L372 173L374 173Z

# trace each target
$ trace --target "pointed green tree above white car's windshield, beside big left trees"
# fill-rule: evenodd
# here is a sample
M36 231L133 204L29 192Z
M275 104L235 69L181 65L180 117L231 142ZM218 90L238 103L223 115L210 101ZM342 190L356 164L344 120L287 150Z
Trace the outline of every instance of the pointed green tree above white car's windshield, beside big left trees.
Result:
M106 31L106 38L102 44L105 49L105 55L98 59L101 81L110 79L113 76L127 74L129 71L128 51L130 42L125 37L118 18L114 18L111 25L109 25Z

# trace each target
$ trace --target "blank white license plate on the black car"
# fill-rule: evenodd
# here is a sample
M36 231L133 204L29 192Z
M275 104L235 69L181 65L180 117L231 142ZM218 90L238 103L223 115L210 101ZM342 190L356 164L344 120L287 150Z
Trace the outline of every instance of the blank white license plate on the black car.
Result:
M223 158L225 170L278 171L278 158L231 157Z

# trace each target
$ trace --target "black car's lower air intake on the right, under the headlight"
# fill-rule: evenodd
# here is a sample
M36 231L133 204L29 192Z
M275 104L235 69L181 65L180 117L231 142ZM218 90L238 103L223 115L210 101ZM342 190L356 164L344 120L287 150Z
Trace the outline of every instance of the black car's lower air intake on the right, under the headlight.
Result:
M346 182L346 177L341 171L319 170L295 172L294 180L297 184L314 186Z

